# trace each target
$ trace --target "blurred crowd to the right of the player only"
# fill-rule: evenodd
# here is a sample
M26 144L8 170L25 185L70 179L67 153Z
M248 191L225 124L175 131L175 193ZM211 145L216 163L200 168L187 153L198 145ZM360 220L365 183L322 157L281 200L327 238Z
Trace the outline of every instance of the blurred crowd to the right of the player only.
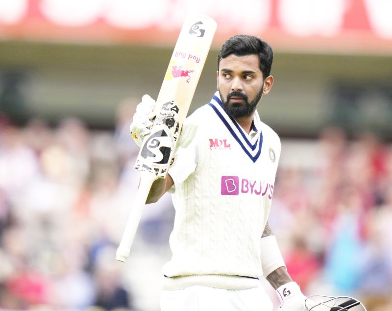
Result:
M308 294L351 295L368 311L391 311L391 145L326 128L311 148L283 144L282 160L271 226L293 279Z

